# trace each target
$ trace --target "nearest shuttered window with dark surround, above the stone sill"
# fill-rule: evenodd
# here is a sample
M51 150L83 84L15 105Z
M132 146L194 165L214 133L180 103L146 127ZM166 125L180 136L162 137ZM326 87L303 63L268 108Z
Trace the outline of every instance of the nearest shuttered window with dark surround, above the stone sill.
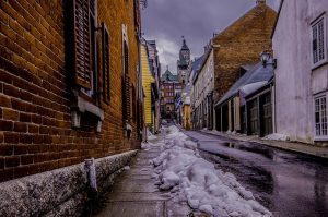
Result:
M70 1L69 16L73 24L70 41L74 82L81 89L92 95L96 89L96 37L95 37L95 0Z

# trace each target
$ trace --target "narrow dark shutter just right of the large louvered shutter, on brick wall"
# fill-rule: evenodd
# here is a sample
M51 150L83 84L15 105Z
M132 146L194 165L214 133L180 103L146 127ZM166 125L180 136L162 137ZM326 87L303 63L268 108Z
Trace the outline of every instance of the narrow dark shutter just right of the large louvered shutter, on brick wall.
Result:
M103 23L103 97L105 103L110 100L109 77L109 33Z

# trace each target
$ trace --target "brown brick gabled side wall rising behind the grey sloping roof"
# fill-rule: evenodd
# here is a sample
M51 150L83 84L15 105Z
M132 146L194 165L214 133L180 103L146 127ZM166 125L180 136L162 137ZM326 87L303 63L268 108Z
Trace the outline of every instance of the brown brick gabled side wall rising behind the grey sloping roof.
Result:
M220 120L224 110L218 103L238 80L241 65L257 63L260 53L271 48L276 17L276 11L267 5L266 0L258 0L255 8L212 39L216 130L226 130Z

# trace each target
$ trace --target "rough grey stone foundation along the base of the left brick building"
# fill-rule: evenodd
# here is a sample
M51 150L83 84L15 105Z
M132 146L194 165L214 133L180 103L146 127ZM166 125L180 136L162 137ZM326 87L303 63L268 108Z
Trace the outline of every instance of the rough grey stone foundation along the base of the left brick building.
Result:
M95 160L99 192L136 150ZM0 183L0 216L81 216L87 202L84 164Z

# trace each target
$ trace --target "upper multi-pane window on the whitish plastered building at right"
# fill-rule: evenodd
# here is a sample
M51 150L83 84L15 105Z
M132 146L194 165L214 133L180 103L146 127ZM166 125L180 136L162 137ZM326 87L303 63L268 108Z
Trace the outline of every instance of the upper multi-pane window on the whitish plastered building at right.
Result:
M312 58L314 67L327 60L326 39L326 17L323 15L312 24Z

